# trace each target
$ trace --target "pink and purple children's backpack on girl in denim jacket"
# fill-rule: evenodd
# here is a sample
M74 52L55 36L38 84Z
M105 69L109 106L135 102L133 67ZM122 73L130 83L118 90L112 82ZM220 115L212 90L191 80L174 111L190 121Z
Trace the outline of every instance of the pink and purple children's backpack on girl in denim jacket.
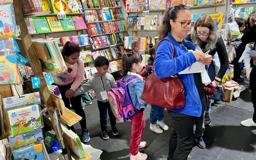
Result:
M130 117L135 115L137 109L140 109L140 103L138 101L136 106L133 106L128 89L128 84L136 79L140 78L131 76L125 80L123 77L121 80L118 80L114 87L108 92L111 110L121 122L126 122Z

